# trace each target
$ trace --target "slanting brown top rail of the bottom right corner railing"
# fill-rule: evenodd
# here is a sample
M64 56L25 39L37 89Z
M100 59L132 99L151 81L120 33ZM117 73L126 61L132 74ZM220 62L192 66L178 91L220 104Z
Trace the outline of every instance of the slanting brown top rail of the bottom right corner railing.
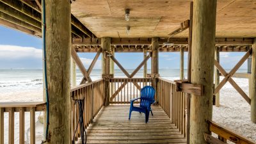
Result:
M228 129L227 127L223 127L222 125L217 124L216 122L212 122L210 120L207 120L207 122L210 124L211 132L214 132L227 140L230 140L234 143L245 142L255 144L255 142L248 140L248 138L241 136L241 134L237 134L236 132Z

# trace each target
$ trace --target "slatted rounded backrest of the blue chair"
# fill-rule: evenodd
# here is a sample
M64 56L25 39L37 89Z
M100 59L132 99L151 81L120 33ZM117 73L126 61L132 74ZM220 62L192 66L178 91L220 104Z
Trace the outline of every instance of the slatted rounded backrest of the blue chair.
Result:
M152 86L144 86L140 91L140 106L147 107L154 102L155 89Z

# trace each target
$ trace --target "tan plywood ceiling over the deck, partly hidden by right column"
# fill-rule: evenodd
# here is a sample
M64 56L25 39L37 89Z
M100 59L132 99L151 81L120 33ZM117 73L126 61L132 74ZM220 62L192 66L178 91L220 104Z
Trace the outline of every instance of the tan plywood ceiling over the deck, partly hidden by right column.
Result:
M167 37L189 19L189 2L176 0L104 0L75 1L72 13L97 37ZM124 19L125 8L130 9L130 20ZM218 1L216 36L256 36L254 1ZM131 35L126 34L127 24ZM236 31L234 31L236 29ZM188 37L188 30L177 37Z

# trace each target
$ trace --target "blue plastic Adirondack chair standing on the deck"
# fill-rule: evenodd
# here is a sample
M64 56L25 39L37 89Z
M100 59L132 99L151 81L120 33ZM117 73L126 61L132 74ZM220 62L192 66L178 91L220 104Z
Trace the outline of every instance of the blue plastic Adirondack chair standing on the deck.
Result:
M148 116L149 113L151 111L152 113L152 109L150 108L151 104L153 104L155 102L154 100L154 95L155 95L155 89L152 86L145 86L141 89L141 97L140 98L136 98L136 99L131 99L131 106L130 106L130 113L129 113L129 120L131 119L131 113L132 111L138 111L138 112L142 112L145 113L145 122L148 122ZM140 99L140 107L135 107L133 106L133 102L135 100Z

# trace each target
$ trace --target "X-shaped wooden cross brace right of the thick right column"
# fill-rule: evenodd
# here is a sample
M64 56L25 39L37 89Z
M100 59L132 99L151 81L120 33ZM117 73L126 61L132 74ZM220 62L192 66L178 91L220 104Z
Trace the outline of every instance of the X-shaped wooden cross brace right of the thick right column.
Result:
M236 71L238 70L239 67L241 67L241 65L243 65L244 61L250 56L252 52L252 49L250 49L249 51L246 52L246 54L244 54L243 58L241 58L241 60L236 64L236 66L234 68L232 68L232 70L230 70L229 73L227 73L223 67L221 67L220 63L218 63L218 61L214 61L214 65L216 68L218 68L218 70L220 70L221 74L224 77L224 79L221 81L221 83L215 88L214 90L214 95L218 92L220 92L220 89L225 85L225 83L227 83L227 81L237 90L238 93L240 93L240 95L242 95L242 97L246 100L246 102L248 102L249 104L251 104L251 99L248 97L248 95L246 95L246 93L243 92L243 90L237 85L237 83L232 79L232 76L236 73Z

